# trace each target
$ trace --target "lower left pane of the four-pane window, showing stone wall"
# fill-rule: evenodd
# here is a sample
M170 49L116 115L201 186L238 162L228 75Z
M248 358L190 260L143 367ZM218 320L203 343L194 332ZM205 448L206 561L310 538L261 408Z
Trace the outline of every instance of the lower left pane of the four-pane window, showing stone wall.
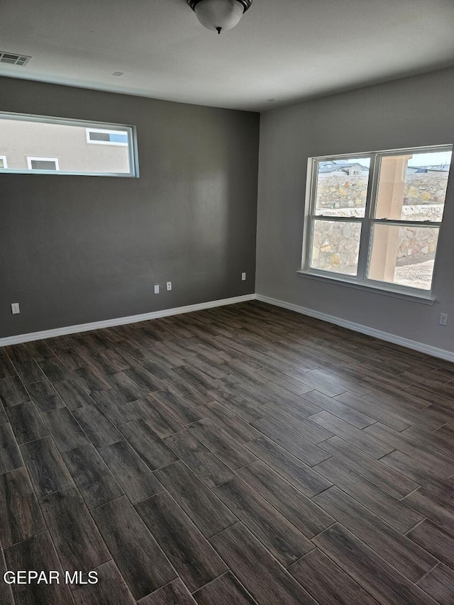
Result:
M361 223L315 219L311 268L356 275L360 237Z

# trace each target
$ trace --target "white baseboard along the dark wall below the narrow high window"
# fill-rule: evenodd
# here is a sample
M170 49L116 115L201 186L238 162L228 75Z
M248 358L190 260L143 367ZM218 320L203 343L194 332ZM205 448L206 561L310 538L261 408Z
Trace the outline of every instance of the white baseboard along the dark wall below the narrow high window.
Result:
M170 315L179 315L181 313L191 313L192 311L202 311L203 309L214 309L216 306L226 306L245 301L255 300L255 294L245 294L244 296L233 296L231 299L221 299L218 301L208 301L204 303L189 304L187 306L178 306L174 309L162 309L162 311L152 311L142 315L131 315L129 317L118 317L116 319L106 319L104 321L93 321L92 323L80 323L78 326L65 326L64 328L54 328L43 332L31 332L28 334L18 334L16 336L7 336L0 338L0 347L8 345L18 345L20 343L29 343L31 340L43 340L44 338L55 338L55 336L64 336L66 334L77 334L79 332L89 332L90 330L99 330L99 328L111 328L112 326L124 326L126 323L138 323L147 319L157 319L168 317Z

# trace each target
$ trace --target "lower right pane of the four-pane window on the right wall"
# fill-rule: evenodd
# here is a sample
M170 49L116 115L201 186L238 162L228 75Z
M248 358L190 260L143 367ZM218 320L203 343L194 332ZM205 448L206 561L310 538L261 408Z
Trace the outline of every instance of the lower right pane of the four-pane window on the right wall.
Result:
M430 290L437 241L438 227L376 224L367 277Z

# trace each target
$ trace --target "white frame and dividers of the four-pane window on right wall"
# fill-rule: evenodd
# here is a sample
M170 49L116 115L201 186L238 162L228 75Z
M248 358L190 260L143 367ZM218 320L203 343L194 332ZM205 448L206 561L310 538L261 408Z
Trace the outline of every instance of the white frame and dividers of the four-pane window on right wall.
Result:
M306 179L306 200L304 204L304 228L303 228L303 250L301 257L301 270L300 274L308 277L315 277L317 279L328 280L330 282L339 282L343 284L349 284L359 289L365 289L370 291L379 291L382 294L402 294L405 297L409 296L414 299L427 299L433 301L433 281L436 275L437 267L437 253L438 243L435 253L435 262L432 272L431 289L421 289L411 286L404 286L402 284L395 284L392 282L384 282L376 279L370 279L367 277L367 273L370 267L372 243L373 243L373 231L376 224L385 224L389 226L418 226L422 228L441 228L442 221L405 221L405 220L394 220L387 218L375 218L377 210L377 193L380 182L380 168L382 157L392 157L393 155L408 155L414 153L430 153L430 152L443 152L450 151L454 152L453 144L448 143L444 145L428 145L426 147L416 148L402 148L392 150L380 150L373 152L355 152L345 153L339 155L326 155L309 157L307 179ZM364 217L355 216L323 216L316 214L316 189L317 189L317 177L318 167L321 162L327 162L330 160L348 160L349 158L370 158L370 170L369 170L369 182L367 185L367 195L365 204ZM451 166L452 166L451 162ZM448 179L450 177L448 174ZM444 207L443 207L444 214ZM348 275L341 272L333 272L322 269L311 267L311 255L312 255L312 240L314 234L314 225L316 221L331 221L331 222L351 222L360 223L361 235L360 235L360 248L358 252L358 272L356 275Z

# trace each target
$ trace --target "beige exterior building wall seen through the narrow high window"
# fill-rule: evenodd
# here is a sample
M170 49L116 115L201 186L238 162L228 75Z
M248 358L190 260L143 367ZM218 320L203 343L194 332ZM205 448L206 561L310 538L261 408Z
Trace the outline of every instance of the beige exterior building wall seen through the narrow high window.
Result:
M130 170L128 145L87 143L84 126L0 119L2 155L8 170L28 170L27 157L55 157L62 172Z

